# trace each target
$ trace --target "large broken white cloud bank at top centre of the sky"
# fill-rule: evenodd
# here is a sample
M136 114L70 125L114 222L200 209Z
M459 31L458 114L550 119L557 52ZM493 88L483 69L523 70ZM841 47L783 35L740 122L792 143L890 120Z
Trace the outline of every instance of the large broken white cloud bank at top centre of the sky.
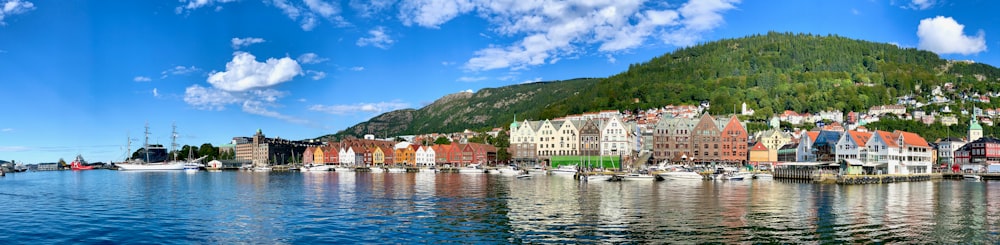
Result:
M418 0L400 3L405 25L438 28L457 16L475 12L509 45L490 45L464 65L470 71L552 64L585 53L590 46L614 53L649 39L688 46L725 23L722 14L739 0L690 0L679 7L643 0L467 1Z

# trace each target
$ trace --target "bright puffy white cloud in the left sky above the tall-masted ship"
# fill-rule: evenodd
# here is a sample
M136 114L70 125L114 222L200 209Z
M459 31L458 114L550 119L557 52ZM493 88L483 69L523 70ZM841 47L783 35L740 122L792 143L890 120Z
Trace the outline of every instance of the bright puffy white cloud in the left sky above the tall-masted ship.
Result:
M226 71L212 71L208 83L235 92L274 86L302 75L302 67L291 58L268 58L265 62L255 59L247 52L233 53L233 60L226 63Z

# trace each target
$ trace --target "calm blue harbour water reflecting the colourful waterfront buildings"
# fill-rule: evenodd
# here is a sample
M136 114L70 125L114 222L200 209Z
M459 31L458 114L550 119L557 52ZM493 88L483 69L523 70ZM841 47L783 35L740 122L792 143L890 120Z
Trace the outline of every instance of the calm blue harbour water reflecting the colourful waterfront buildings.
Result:
M998 243L1000 183L31 172L0 177L0 241Z

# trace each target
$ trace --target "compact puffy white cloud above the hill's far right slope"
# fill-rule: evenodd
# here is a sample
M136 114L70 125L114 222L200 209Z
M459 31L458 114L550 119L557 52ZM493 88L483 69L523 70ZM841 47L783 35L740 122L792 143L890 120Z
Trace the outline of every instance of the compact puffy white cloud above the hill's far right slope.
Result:
M986 51L986 33L966 36L965 26L951 17L937 16L920 20L917 48L938 54L970 55Z

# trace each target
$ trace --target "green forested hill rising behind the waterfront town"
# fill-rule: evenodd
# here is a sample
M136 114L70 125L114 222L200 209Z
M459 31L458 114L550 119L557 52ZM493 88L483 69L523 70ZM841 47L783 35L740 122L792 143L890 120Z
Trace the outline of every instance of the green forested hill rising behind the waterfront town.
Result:
M894 104L903 95L926 101L929 96L922 95L947 82L968 94L996 92L998 79L996 67L949 62L928 51L835 35L771 32L681 48L605 79L449 95L419 110L380 115L338 135L454 132L501 127L515 113L519 119L537 120L702 101L711 103L712 114L732 113L746 102L761 118L783 110L866 111ZM993 103L998 105L980 107L1000 107L1000 100Z

